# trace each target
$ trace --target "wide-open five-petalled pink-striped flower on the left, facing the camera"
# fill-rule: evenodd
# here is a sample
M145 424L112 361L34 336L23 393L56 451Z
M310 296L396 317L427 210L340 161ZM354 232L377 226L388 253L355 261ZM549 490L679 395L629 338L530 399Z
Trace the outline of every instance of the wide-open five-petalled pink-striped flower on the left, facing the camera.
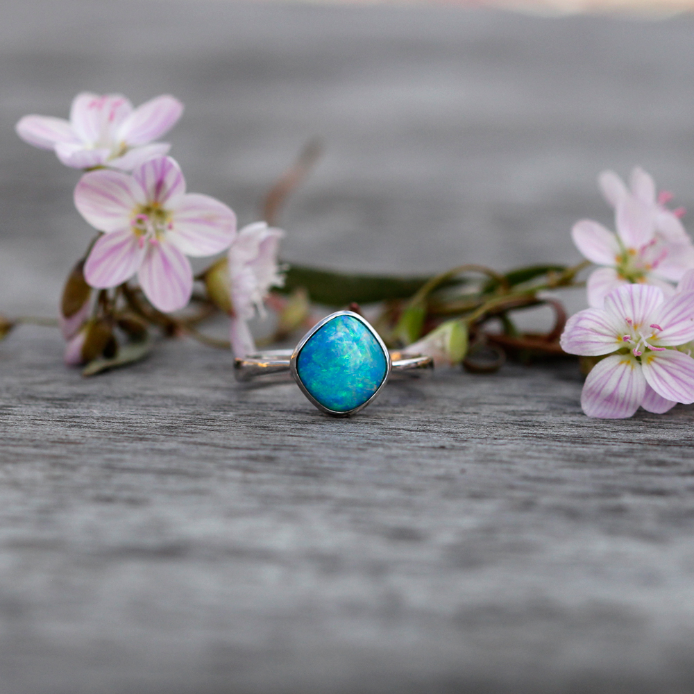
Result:
M104 232L85 262L87 283L116 287L137 272L161 311L176 311L190 299L193 272L185 256L219 253L236 233L234 212L210 196L187 194L171 157L144 162L132 175L90 171L75 188L75 205Z

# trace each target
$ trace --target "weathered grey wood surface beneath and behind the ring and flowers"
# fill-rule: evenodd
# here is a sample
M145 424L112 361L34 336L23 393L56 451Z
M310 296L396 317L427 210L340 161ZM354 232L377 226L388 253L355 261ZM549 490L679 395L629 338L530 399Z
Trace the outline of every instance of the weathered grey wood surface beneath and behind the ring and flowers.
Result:
M311 135L287 257L577 260L594 176L694 202L694 22L451 8L6 3L2 310L53 312L89 230L17 141L88 88L187 103L192 190L251 221ZM391 384L321 416L167 343L83 380L0 345L3 694L694 691L694 412L591 421L573 364Z

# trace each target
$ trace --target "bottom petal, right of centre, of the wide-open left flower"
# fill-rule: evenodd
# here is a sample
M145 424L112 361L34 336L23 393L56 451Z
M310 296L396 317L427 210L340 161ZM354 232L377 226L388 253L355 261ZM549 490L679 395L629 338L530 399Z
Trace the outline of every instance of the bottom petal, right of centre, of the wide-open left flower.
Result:
M145 296L160 311L177 311L190 301L193 270L173 244L149 244L137 278Z

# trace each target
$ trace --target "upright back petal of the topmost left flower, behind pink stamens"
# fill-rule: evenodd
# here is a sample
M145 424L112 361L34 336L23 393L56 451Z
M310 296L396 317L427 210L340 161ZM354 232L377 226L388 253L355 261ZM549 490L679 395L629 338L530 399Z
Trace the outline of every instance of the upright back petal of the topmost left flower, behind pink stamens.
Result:
M122 94L83 92L72 101L70 123L85 144L115 144L116 132L132 110Z

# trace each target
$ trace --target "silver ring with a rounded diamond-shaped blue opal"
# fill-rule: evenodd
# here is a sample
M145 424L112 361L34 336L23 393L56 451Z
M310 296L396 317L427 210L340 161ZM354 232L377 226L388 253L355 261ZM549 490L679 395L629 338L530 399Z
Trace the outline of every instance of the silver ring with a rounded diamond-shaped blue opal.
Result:
M272 350L234 359L237 380L290 373L321 412L347 416L380 393L391 371L432 369L427 355L389 352L369 321L337 311L316 323L293 350Z

